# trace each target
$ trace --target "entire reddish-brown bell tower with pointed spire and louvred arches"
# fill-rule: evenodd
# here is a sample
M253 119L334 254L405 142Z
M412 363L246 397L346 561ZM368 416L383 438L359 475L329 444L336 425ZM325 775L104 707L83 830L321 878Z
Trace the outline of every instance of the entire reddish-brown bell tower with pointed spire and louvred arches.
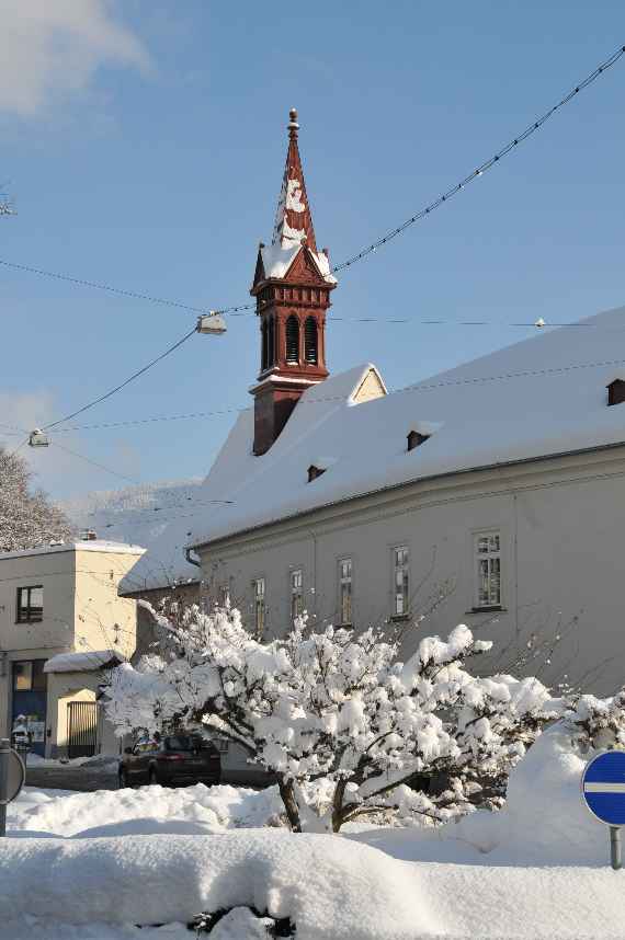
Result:
M265 454L303 392L328 376L326 311L337 279L328 250L317 250L299 148L289 112L288 150L272 242L259 248L254 283L261 364L254 397L254 454Z

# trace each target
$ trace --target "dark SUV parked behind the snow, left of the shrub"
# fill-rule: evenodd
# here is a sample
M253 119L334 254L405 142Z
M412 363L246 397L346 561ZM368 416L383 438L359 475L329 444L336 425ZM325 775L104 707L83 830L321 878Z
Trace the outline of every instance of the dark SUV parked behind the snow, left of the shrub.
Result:
M173 734L126 747L120 761L120 787L161 783L189 787L218 783L221 776L219 752L195 734Z

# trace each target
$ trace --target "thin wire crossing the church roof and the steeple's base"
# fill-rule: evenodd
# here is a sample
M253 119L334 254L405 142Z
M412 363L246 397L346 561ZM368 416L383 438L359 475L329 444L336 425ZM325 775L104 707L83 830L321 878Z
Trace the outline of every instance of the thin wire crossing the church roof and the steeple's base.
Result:
M418 385L412 383L409 386L402 386L401 388L391 388L387 390L387 396L405 394L407 392L414 393L421 391L432 391L433 389L445 388L450 386L469 386L486 382L509 381L511 379L520 378L534 378L535 376L560 376L573 370L603 368L606 366L617 367L623 365L625 365L625 359L598 359L591 363L571 363L565 366L552 366L544 369L521 369L519 371L501 372L499 375L493 376L474 376L471 378L466 379L443 379L441 381L435 382L422 382ZM345 396L326 396L322 398L312 399L311 401L308 401L306 398L303 398L298 401L297 406L302 408L303 405L320 404L327 401L345 401ZM156 422L163 421L190 421L193 419L221 417L226 414L240 414L241 412L249 410L250 405L241 405L239 408L225 408L220 409L219 411L195 411L189 414L156 415L155 417L143 417L136 419L134 421L71 425L70 427L59 428L59 432L69 433L72 431L96 431L111 427L129 427L140 424L152 424Z

